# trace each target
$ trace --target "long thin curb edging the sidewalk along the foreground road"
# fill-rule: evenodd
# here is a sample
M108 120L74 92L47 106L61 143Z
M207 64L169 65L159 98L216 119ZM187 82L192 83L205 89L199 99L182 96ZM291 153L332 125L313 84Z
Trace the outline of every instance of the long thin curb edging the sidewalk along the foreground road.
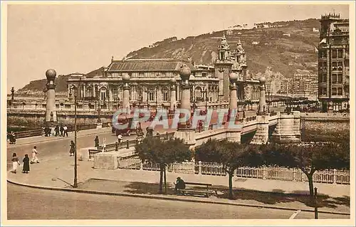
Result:
M304 211L304 212L314 212L314 209L300 209L300 208L288 208L281 206L266 206L266 205L253 205L253 204L239 204L239 203L231 203L231 202L219 202L219 201L200 201L197 199L182 199L182 198L169 198L167 196L152 196L152 195L142 195L142 194L128 194L128 193L118 193L118 192L109 192L109 191L93 191L93 190L84 190L84 189L66 189L66 188L58 188L58 187L50 187L50 186L38 186L31 184L23 184L15 181L11 181L7 179L10 184L16 184L19 186L27 186L33 189L46 189L51 191L68 191L68 192L76 192L76 193L86 193L86 194L101 194L107 196L129 196L135 198L142 199L161 199L161 200L169 200L169 201L184 201L184 202L192 202L192 203L201 203L201 204L218 204L218 205L231 205L231 206L248 206L248 207L257 207L257 208L271 208L278 210L286 210L286 211ZM350 213L345 212L333 212L333 211L318 211L318 213L329 213L329 214L339 214L350 216Z

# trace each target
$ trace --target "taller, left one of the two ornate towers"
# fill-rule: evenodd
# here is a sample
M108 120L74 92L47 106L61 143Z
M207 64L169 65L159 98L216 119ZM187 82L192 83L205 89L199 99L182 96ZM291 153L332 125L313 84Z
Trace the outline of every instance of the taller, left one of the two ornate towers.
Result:
M221 37L221 42L218 48L219 58L214 65L215 76L219 78L219 96L222 96L222 101L229 102L229 73L233 61L230 58L230 46L226 41L225 34ZM219 97L219 100L220 97Z

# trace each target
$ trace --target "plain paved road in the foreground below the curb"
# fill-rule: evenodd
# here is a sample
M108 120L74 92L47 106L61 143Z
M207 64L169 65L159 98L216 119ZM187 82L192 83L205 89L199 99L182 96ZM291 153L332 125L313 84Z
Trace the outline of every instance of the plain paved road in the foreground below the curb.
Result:
M8 184L8 219L245 219L289 218L293 211L125 196L79 194ZM320 214L320 218L350 218ZM297 218L313 218L300 213Z

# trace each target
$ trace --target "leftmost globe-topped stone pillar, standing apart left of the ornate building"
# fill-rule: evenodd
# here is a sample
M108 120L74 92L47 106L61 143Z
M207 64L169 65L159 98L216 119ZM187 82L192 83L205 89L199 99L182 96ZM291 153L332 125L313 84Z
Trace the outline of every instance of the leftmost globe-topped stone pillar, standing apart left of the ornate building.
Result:
M56 70L49 69L46 71L47 78L47 102L46 102L46 118L45 123L47 126L57 125L57 113L56 113L56 93L54 88L56 85L54 84L54 80L56 79Z

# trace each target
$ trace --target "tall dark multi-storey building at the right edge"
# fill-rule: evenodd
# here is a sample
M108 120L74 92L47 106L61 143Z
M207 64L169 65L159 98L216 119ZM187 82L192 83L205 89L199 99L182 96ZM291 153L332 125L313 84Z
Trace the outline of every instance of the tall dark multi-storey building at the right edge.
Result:
M349 20L340 14L320 19L318 46L318 99L323 111L350 108Z

